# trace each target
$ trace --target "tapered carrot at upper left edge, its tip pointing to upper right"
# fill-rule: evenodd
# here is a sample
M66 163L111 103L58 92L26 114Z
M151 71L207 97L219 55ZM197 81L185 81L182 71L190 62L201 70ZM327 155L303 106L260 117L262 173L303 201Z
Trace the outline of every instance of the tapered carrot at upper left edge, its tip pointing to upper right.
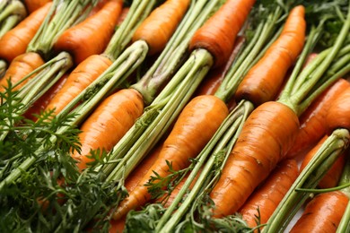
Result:
M31 39L44 21L51 5L51 3L45 4L37 11L31 13L0 39L0 58L11 63L14 57L25 53Z

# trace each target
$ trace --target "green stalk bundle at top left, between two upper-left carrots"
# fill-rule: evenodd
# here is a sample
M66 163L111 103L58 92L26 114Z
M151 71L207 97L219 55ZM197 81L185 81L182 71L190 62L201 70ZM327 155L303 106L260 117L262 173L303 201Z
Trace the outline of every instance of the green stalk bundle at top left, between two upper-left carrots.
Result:
M86 18L95 4L97 0L54 1L50 12L27 47L27 52L38 52L48 56L59 36Z

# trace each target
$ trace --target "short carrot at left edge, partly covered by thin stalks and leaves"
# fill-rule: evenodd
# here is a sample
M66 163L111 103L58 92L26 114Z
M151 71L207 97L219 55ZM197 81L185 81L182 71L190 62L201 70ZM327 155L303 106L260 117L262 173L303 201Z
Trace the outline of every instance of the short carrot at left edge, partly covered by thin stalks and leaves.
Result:
M17 82L20 82L27 74L43 64L44 61L37 53L25 53L17 56L13 59L13 62L8 67L4 77L0 80L0 91L5 91L5 88L8 87L8 80L11 79L11 83L14 85ZM13 90L19 90L32 77L33 76L13 88Z

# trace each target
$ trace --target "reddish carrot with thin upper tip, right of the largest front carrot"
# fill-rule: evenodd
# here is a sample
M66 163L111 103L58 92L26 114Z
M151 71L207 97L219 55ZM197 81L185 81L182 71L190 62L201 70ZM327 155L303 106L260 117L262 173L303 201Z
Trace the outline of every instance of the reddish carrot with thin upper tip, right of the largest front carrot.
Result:
M344 79L339 79L332 86L313 101L311 106L300 116L300 130L293 147L287 153L287 158L294 158L311 149L312 145L326 134L327 125L325 117L328 108L333 104L339 93L346 90L350 84Z

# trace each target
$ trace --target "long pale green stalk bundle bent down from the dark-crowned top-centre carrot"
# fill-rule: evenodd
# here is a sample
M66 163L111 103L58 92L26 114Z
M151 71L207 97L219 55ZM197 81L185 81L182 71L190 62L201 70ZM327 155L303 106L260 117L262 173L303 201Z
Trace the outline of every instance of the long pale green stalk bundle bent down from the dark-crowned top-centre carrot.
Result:
M117 165L109 164L106 168L102 167L103 171L108 174L107 181L127 177L139 161L144 158L145 153L151 150L162 134L166 132L172 120L179 115L212 65L213 57L205 49L197 49L189 56L188 61L181 66L171 82L154 99L153 104L145 110L143 116L139 117L136 125L109 153L110 160L119 158L122 160ZM152 119L150 125L147 125L143 132L139 132L142 134L140 137L135 136L134 131L137 131L137 123L150 122L148 112L153 112L157 116ZM115 168L113 169L113 167Z

